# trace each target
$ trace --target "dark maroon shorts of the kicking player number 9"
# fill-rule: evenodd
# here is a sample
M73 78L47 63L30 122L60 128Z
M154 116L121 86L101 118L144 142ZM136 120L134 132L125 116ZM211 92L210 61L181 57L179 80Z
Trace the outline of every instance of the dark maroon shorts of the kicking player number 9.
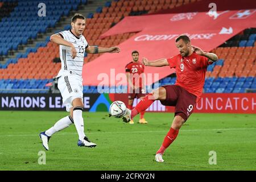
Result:
M177 85L164 85L166 100L160 101L165 106L175 106L175 116L180 115L185 121L196 106L196 96Z

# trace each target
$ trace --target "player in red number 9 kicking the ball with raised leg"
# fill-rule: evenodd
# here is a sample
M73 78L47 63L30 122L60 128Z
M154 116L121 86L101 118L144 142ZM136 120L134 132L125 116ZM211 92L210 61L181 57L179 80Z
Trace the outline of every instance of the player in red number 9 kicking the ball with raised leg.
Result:
M175 117L171 129L156 152L156 162L164 162L162 158L164 151L174 142L180 127L187 121L199 101L203 92L207 66L218 60L214 53L204 52L199 47L191 46L191 40L187 35L180 35L175 40L175 45L179 49L179 55L156 61L148 61L144 58L142 61L145 66L175 68L177 75L175 85L160 86L148 94L133 110L127 109L123 116L123 121L129 122L135 115L146 110L155 100L160 100L166 106L175 106Z

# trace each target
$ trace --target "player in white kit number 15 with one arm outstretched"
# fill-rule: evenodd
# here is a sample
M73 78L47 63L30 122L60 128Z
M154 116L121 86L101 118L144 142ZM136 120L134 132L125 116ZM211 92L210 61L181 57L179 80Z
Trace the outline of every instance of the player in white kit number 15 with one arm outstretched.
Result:
M84 109L82 94L82 65L84 64L84 52L86 53L119 53L118 47L103 48L89 46L85 37L82 35L85 29L85 17L75 14L71 22L72 29L53 34L50 38L52 42L60 45L61 69L58 78L58 88L63 98L63 104L70 115L57 121L50 129L40 133L43 147L49 150L48 142L51 136L57 131L75 123L79 140L77 145L82 147L96 147L90 142L84 133L84 119L82 110Z

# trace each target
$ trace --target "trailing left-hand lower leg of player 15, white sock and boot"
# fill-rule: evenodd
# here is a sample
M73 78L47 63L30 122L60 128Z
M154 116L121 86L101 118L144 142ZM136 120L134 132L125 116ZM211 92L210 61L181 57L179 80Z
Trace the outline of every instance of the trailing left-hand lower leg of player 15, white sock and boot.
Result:
M43 131L42 133L39 134L40 139L43 142L43 147L46 148L46 150L49 150L49 139L53 134L55 134L57 131L63 130L66 127L72 125L73 119L70 115L61 118L59 121L55 123L54 126L52 126L50 129Z

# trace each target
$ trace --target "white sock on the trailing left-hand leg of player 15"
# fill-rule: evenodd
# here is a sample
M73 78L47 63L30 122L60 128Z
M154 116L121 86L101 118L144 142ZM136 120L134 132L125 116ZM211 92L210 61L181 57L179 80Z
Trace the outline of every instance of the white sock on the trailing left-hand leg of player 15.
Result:
M51 137L51 135L53 135L54 133L56 133L57 131L63 130L66 127L69 127L69 125L71 125L73 122L73 119L71 118L70 115L60 119L59 121L57 121L55 123L54 126L52 126L50 129L46 130L46 134Z

